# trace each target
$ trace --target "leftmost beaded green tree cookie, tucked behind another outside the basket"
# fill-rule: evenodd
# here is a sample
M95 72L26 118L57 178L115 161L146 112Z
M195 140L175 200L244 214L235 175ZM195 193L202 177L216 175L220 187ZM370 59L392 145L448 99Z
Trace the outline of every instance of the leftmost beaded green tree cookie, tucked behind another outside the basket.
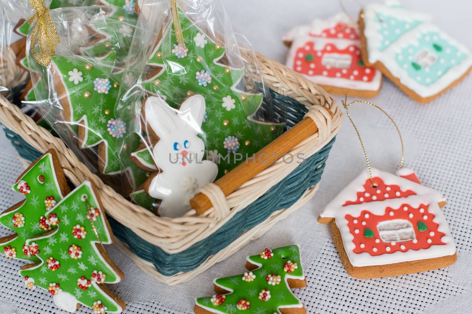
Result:
M7 258L37 263L41 249L33 242L26 244L26 240L57 228L61 221L67 222L71 217L67 211L56 216L46 214L70 192L56 152L50 150L34 161L18 177L13 190L26 199L1 213L0 224L16 233L0 238L0 247Z

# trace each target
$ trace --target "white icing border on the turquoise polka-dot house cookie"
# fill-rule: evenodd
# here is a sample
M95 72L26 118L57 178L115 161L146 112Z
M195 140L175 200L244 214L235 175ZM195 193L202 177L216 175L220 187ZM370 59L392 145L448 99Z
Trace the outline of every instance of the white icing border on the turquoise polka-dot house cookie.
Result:
M377 13L394 16L404 21L413 22L413 20L422 20L423 22L404 33L384 51L379 51L379 46L382 42L383 36L378 31L380 24L376 21ZM365 6L363 20L365 25L364 37L367 42L366 49L369 63L375 63L377 61L381 62L394 77L400 79L400 82L403 85L412 89L420 97L430 97L438 94L444 89L447 89L449 85L463 76L472 66L472 56L469 49L451 38L445 32L440 31L437 26L431 24L431 16L429 15L413 13L403 8L389 8L382 4L372 3ZM452 66L443 76L429 86L424 86L410 77L408 72L397 64L395 59L396 53L400 53L402 48L408 47L411 43L415 43L417 37L424 32L438 32L439 37L456 46L459 51L467 56L460 63Z

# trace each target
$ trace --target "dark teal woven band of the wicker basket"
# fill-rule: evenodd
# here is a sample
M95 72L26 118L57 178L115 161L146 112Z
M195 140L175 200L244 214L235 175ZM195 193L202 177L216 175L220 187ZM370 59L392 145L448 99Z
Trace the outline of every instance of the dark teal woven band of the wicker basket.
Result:
M273 90L270 90L270 95L273 100L271 103L273 111L270 114L274 121L285 121L287 129L301 121L308 111L305 105L293 98L280 95ZM263 108L270 107L264 105ZM19 135L8 129L4 128L4 130L21 157L34 161L41 156L41 153L28 145ZM176 254L166 253L160 247L144 241L131 229L109 216L113 233L120 241L126 243L139 258L152 263L160 274L172 276L179 272L194 270L211 255L231 245L244 231L257 227L275 211L295 204L310 186L320 182L325 162L334 141L335 138L320 151L304 160L287 177L272 186L257 201L238 212L215 233L185 251Z

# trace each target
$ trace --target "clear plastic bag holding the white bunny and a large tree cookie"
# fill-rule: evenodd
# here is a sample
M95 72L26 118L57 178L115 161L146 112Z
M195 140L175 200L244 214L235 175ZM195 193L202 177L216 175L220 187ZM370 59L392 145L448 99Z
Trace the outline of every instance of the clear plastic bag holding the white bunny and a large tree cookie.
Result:
M284 129L219 0L173 4L138 1L137 44L116 107L119 119L133 114L117 145L123 167L149 176L141 184L123 172L124 191L165 217L185 214L200 187L251 162Z

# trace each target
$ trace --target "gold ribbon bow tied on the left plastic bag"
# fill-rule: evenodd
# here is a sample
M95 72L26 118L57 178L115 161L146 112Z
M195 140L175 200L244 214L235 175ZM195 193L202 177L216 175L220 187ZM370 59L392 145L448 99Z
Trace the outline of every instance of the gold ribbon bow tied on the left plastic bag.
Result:
M47 66L55 54L54 49L59 46L59 34L49 15L49 8L43 5L42 0L29 0L29 2L36 11L36 14L28 20L28 24L31 25L37 19L31 32L31 53L34 60L39 64ZM41 53L36 52L34 49L38 37Z

